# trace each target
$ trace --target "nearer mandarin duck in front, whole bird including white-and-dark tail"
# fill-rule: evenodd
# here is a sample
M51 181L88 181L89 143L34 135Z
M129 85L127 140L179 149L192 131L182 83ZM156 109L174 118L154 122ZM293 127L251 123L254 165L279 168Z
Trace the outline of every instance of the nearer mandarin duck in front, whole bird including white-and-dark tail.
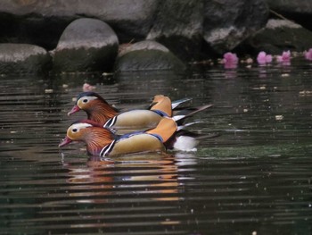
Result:
M114 156L139 152L163 152L166 149L189 151L194 150L198 144L198 136L186 134L182 121L211 105L202 105L190 113L170 117L162 117L158 125L150 130L134 131L124 135L116 135L111 129L101 124L84 120L74 122L67 130L66 137L59 147L66 146L72 141L86 143L86 150L89 155ZM192 124L192 123L190 123Z

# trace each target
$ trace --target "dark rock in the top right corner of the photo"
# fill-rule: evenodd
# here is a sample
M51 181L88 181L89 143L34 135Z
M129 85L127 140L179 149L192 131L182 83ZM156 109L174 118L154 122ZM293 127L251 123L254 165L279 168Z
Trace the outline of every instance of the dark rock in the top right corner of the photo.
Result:
M295 21L304 28L312 30L312 4L311 0L267 0L267 4L275 14Z

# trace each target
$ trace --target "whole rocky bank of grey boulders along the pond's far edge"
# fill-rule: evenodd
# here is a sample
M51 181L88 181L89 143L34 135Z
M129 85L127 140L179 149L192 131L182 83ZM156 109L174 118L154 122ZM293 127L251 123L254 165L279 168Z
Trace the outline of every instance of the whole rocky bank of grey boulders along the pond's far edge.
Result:
M311 17L312 3L272 2L3 0L0 73L184 71L191 61L227 51L312 47L310 21L300 21L305 29L283 19ZM27 65L10 70L17 63Z

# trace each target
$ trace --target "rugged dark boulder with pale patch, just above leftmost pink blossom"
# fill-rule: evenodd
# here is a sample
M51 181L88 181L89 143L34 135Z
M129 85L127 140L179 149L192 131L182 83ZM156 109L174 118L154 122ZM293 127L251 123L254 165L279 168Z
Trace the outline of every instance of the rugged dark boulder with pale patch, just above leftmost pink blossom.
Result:
M263 0L205 1L203 38L209 48L223 54L265 27L268 17Z

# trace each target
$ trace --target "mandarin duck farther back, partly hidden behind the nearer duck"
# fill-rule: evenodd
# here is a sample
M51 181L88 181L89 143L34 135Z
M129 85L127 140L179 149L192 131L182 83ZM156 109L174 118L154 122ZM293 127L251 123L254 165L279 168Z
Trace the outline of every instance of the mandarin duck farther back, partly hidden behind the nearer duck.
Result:
M76 104L68 114L71 115L79 110L84 110L87 114L87 119L97 122L103 125L103 127L116 130L140 130L155 127L162 117L171 117L173 114L172 110L188 100L190 98L171 102L169 97L157 95L147 109L119 112L118 109L109 105L100 95L94 92L83 92L78 95Z

